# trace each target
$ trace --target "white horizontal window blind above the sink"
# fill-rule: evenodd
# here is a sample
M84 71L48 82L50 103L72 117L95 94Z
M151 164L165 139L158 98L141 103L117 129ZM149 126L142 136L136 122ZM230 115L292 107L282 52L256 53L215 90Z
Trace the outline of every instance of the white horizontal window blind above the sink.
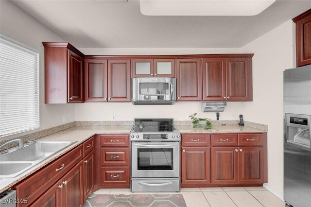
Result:
M39 127L39 53L0 35L0 137Z

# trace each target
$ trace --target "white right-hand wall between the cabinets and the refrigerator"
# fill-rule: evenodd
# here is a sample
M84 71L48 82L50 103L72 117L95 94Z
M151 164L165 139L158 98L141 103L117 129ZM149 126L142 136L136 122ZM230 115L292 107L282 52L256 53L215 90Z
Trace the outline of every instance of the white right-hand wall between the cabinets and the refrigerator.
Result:
M268 124L268 188L283 198L283 71L294 68L294 23L289 20L242 47L254 52L254 101L247 121Z

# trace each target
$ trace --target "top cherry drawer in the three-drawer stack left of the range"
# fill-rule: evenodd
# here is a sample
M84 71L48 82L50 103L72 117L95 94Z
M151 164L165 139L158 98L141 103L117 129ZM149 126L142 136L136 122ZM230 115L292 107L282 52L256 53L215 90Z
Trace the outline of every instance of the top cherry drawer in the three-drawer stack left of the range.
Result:
M102 147L128 147L129 135L101 135Z

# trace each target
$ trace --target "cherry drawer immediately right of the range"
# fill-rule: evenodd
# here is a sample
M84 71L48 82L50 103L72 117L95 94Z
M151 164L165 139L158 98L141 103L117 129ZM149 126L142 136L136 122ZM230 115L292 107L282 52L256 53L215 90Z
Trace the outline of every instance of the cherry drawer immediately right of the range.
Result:
M209 146L210 135L181 135L181 146L183 147L206 147Z

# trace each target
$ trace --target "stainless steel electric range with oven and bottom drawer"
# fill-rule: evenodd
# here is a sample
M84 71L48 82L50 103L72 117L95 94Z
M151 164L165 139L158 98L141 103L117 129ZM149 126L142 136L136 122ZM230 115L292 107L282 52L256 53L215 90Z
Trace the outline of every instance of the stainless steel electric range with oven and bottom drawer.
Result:
M134 119L131 191L180 190L180 132L173 119Z

